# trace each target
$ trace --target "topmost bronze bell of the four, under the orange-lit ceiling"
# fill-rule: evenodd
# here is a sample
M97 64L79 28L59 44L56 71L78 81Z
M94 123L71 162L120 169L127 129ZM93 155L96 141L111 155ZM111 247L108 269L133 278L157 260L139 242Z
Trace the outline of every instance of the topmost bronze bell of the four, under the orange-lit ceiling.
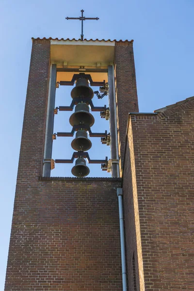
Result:
M79 78L76 82L76 86L71 90L71 97L84 96L87 98L93 98L94 91L89 87L89 83L85 78Z

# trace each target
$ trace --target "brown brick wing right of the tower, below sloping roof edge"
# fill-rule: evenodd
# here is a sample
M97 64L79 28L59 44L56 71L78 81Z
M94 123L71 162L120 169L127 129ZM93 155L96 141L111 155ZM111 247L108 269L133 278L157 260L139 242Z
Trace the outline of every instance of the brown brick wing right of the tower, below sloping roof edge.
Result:
M141 257L141 245L135 242L135 237L138 240L140 236L139 220L147 291L194 290L194 106L191 108L194 102L191 102L182 109L130 117L123 188L126 205L132 203L132 223L130 229L126 223L126 239L127 245L129 242L137 250L136 257ZM130 209L125 206L126 222ZM127 255L130 263L129 247ZM128 268L131 275L131 263ZM141 272L141 266L136 264L138 268Z

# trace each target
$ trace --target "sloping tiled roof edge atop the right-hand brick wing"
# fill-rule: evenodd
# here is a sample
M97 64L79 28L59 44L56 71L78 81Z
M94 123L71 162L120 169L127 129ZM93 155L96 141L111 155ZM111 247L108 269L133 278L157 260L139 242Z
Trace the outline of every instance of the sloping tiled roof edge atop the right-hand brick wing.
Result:
M168 105L166 107L154 110L154 113L159 113L158 117L164 118L192 107L194 107L194 96L186 98L182 101L178 101L177 103Z

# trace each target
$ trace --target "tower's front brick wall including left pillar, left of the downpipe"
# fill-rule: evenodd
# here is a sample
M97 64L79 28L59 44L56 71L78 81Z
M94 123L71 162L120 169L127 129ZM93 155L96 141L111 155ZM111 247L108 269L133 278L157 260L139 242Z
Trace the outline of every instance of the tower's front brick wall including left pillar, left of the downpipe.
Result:
M39 180L50 42L33 41L5 291L121 291L120 179Z

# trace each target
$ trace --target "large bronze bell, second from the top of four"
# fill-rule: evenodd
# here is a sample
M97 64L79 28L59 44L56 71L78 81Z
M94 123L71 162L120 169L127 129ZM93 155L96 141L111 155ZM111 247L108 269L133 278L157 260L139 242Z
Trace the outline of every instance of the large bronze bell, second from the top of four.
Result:
M93 126L94 116L89 112L89 106L86 103L78 103L75 112L69 118L69 123L71 126L79 124Z

